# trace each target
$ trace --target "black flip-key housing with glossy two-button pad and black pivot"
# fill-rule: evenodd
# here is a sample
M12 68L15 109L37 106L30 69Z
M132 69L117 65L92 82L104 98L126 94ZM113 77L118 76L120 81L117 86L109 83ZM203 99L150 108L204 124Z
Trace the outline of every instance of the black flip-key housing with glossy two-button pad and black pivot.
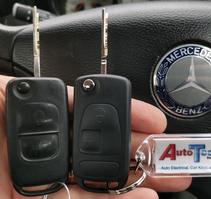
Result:
M61 184L27 192L22 187L66 182L69 170L67 90L57 78L17 78L6 89L8 156L13 184L23 195L56 191Z

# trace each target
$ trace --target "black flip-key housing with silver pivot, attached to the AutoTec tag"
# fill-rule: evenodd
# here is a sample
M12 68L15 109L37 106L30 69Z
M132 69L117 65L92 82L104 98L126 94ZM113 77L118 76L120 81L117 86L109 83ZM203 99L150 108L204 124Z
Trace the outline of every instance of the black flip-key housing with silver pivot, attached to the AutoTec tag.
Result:
M84 82L93 87L84 89ZM107 192L109 183L122 188L130 159L131 84L116 75L79 77L74 93L73 173L88 191ZM90 186L105 182L105 187Z

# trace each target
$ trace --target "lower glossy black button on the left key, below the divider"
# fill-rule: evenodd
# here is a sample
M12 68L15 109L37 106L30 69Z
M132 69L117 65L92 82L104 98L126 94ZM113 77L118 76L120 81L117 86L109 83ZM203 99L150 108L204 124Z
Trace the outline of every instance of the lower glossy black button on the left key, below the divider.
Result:
M21 156L27 161L50 160L56 157L59 149L58 135L21 136Z

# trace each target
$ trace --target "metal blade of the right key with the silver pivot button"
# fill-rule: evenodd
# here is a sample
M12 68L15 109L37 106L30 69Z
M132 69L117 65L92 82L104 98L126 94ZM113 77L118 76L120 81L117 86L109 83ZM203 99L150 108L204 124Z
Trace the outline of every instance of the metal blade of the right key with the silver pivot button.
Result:
M108 57L108 13L105 8L102 9L102 27L101 27L101 74L107 74Z

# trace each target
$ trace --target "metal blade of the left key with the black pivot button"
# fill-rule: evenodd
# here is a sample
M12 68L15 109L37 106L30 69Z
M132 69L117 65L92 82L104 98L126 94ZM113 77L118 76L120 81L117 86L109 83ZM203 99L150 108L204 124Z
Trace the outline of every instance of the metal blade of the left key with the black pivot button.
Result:
M37 7L33 8L33 53L34 53L34 76L40 77L40 34L39 13Z

